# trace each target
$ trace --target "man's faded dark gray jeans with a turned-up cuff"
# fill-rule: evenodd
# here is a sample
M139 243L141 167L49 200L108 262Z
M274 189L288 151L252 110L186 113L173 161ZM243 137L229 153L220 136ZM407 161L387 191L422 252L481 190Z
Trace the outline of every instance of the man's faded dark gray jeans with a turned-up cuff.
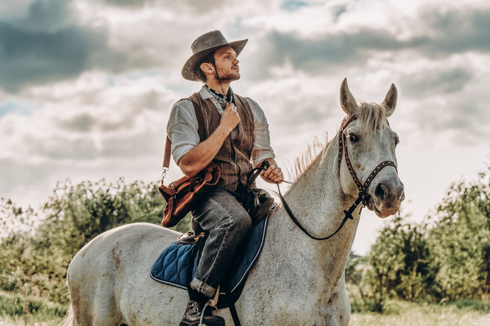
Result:
M191 287L211 298L228 270L238 245L251 226L251 219L237 198L215 188L192 212L193 223L209 233Z

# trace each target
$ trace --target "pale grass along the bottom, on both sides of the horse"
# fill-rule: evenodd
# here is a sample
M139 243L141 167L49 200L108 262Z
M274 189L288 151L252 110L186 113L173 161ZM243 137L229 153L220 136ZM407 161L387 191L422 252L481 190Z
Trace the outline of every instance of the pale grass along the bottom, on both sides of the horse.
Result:
M354 313L349 326L488 326L490 312L488 305L475 310L475 304L414 304L392 301L386 304L384 314ZM25 324L25 318L27 324ZM56 326L62 318L27 315L0 316L0 326Z

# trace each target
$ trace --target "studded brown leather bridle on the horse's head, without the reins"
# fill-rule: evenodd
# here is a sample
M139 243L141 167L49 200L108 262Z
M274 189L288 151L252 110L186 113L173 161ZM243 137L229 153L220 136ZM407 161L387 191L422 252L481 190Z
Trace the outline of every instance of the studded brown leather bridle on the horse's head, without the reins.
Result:
M340 164L342 162L342 151L343 151L343 152L345 152L345 164L347 165L347 169L349 169L350 175L352 176L352 179L354 180L354 183L356 184L357 189L359 189L359 195L358 195L356 201L352 204L352 206L350 206L350 208L349 208L348 211L343 211L345 213L344 221L345 221L346 218L353 219L352 213L354 212L354 210L356 209L356 207L361 202L363 203L363 207L366 207L366 206L370 206L371 205L369 203L369 199L371 198L371 196L368 195L368 188L369 188L369 185L371 184L371 181L374 178L374 176L376 174L378 174L378 172L380 172L381 169L383 169L384 167L387 167L387 166L390 166L391 165L391 166L393 166L395 168L396 173L398 173L398 171L396 169L396 164L393 161L384 161L384 162L381 162L371 172L371 174L369 174L369 176L366 179L366 181L364 182L364 184L361 183L361 181L357 177L356 173L354 172L354 168L352 167L352 164L350 163L349 153L347 152L347 146L345 145L345 143L346 143L345 142L345 134L343 132L345 130L345 128L347 128L347 126L352 121L356 120L357 118L358 118L358 116L356 114L356 115L351 116L349 119L344 119L345 122L344 122L344 124L342 126L342 129L340 130L340 134L339 134L339 170L340 170Z

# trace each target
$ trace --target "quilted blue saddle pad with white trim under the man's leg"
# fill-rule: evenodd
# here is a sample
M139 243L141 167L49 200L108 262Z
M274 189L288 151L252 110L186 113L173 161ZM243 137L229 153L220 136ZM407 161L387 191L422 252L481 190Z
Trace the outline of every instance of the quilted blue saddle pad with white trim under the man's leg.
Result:
M237 250L235 259L223 280L226 284L222 284L229 289L230 294L237 289L241 290L248 272L259 258L266 239L268 221L269 216L252 227ZM196 274L197 250L196 244L172 243L153 263L150 271L151 278L160 283L187 289L187 285Z

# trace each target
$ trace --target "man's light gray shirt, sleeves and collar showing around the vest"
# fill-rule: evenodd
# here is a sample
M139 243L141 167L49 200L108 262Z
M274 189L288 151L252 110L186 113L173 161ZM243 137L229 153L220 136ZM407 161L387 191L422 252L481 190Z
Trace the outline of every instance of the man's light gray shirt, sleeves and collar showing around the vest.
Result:
M211 99L220 114L223 112L218 101L204 87L199 90L199 95L203 99ZM267 158L275 158L274 151L270 147L269 124L267 123L264 111L259 105L246 97L246 101L252 110L253 115L253 135L254 143L252 149L252 164L257 166ZM197 133L197 119L194 105L190 100L177 102L170 112L169 123L167 124L167 135L172 141L172 156L175 163L193 147L199 144L199 134ZM231 132L232 139L236 132Z

